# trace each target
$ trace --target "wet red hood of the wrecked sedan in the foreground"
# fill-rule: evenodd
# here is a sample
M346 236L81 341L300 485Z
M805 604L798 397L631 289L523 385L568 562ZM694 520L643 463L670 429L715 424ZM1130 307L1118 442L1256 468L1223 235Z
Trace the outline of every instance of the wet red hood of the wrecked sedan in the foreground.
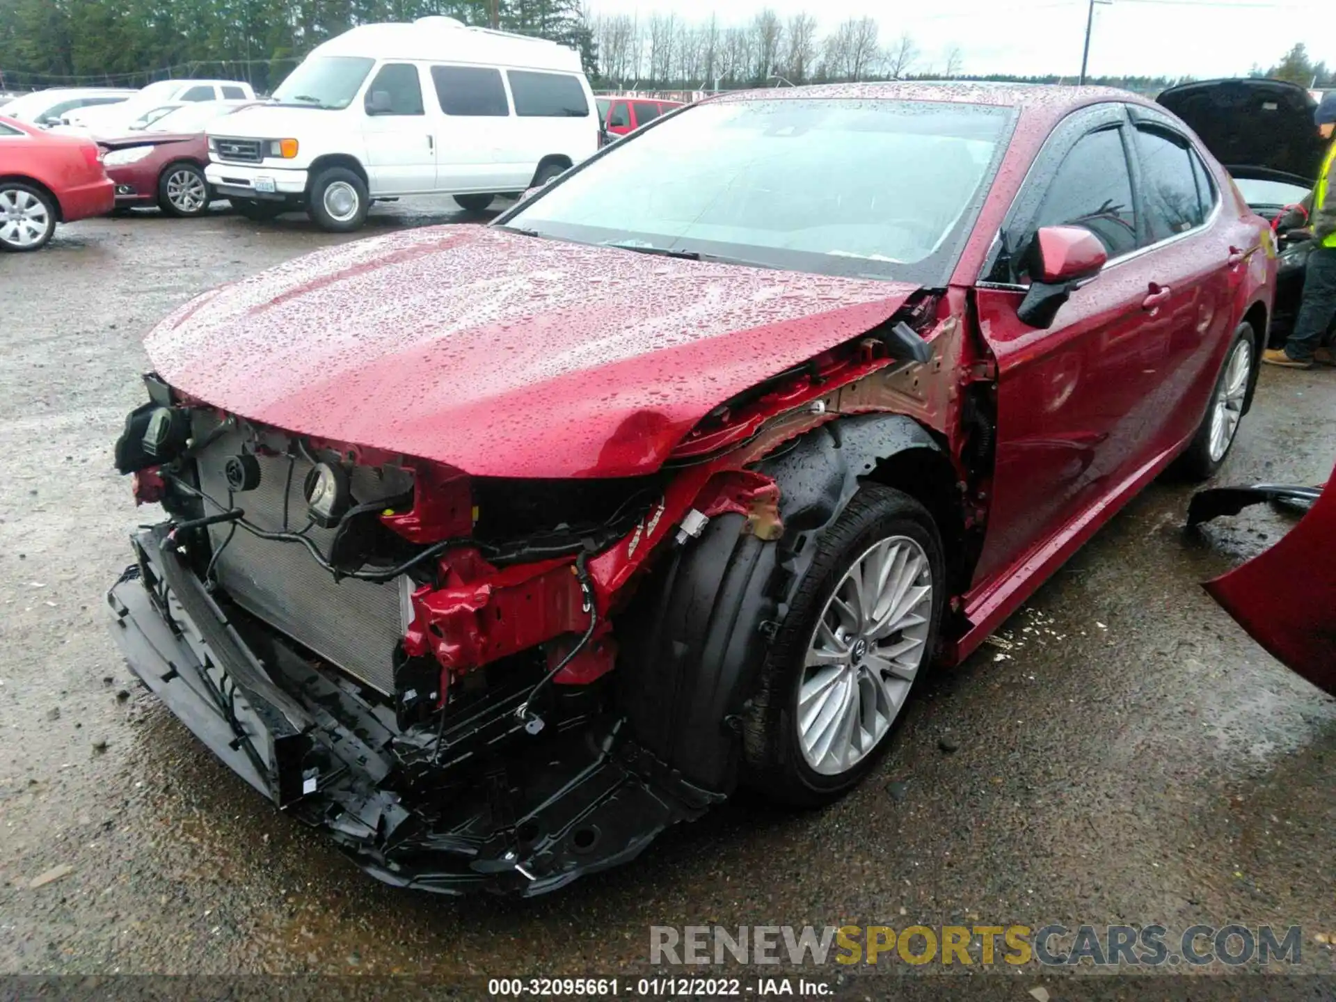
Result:
M915 289L444 226L206 293L146 346L178 390L291 432L474 476L619 477Z

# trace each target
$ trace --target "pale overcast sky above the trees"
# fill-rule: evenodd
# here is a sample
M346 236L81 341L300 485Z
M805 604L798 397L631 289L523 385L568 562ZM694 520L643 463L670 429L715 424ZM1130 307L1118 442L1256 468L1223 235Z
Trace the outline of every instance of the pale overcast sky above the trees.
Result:
M941 68L959 45L966 73L1071 73L1081 69L1086 0L588 0L593 13L676 13L741 24L771 7L811 12L822 32L872 15L883 44L908 32L921 67ZM1319 27L1320 25L1320 27ZM1093 75L1241 76L1280 61L1296 41L1336 65L1336 0L1114 0L1096 5ZM925 65L926 64L926 65Z

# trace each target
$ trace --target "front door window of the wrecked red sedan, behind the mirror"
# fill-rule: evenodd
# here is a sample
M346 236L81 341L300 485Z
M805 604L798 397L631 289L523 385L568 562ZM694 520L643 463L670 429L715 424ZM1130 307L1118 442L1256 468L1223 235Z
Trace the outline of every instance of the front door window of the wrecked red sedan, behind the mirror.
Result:
M1085 227L1109 258L1136 250L1137 215L1121 130L1090 132L1071 147L1043 196L1035 228L1041 226Z

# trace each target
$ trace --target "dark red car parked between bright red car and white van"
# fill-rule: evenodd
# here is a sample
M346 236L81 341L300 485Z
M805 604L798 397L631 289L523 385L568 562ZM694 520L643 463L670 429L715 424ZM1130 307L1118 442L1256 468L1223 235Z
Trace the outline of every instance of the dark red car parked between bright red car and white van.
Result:
M124 136L98 142L107 151L107 174L116 183L116 207L158 206L167 215L196 216L214 191L204 179L208 139L204 126L244 107L236 102L186 104Z

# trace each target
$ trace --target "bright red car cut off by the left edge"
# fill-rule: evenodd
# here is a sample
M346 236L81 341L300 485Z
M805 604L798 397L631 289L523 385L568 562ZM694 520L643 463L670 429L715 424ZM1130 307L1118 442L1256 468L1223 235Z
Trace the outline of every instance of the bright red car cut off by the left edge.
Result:
M0 116L0 250L44 247L56 223L112 208L98 144Z

